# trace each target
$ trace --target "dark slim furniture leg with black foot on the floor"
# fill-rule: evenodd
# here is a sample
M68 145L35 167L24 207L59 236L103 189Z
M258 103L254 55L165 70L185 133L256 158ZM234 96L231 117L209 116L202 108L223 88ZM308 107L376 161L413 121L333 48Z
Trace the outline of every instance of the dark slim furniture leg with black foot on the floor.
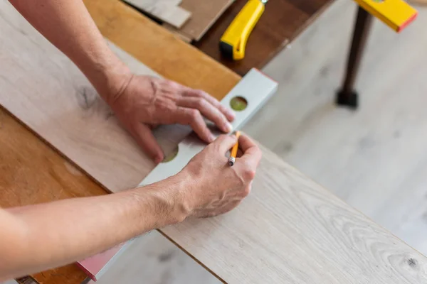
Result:
M358 94L354 90L359 65L362 61L364 47L367 43L369 30L371 29L372 16L359 6L357 19L354 24L352 48L347 61L347 71L342 88L337 94L336 103L340 106L357 109Z

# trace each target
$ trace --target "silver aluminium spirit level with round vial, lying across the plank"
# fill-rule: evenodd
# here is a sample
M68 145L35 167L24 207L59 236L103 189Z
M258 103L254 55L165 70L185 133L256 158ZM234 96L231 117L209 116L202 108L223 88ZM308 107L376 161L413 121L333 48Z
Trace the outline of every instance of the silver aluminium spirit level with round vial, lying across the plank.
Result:
M221 82L218 82L221 84ZM251 117L263 107L263 104L277 91L278 83L267 75L260 72L255 68L251 69L238 84L229 92L226 97L221 100L221 104L226 107L229 107L231 104L231 99L234 97L243 97L248 102L246 109L242 111L236 111L236 118L231 123L233 130L241 129L241 127L246 124L246 122L251 119ZM219 133L215 133L218 135ZM202 151L206 146L205 143L202 143L199 138L196 138L194 134L186 137L178 145L178 154L176 157L167 162L160 163L157 165L154 170L152 170L147 177L139 183L139 186L149 185L165 178L169 178L184 168L184 166L189 163L189 160L194 157L197 153ZM133 244L135 241L138 241L139 238L132 239L127 241L122 248L115 253L110 261L108 261L105 266L100 270L99 273L95 275L95 279L99 280L100 277L105 273L105 271L114 268L114 265L117 259L125 253L126 249ZM90 280L93 282L93 280ZM88 283L88 280L85 280L84 283Z

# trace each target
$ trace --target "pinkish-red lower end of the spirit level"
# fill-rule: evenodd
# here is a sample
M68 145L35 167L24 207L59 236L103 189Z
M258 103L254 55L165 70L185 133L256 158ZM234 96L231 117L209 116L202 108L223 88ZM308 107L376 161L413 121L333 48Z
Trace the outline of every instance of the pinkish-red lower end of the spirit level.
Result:
M101 269L112 259L115 254L122 249L124 244L115 246L108 251L98 253L90 258L85 258L83 261L78 261L76 264L94 281L97 280L96 275L100 273Z

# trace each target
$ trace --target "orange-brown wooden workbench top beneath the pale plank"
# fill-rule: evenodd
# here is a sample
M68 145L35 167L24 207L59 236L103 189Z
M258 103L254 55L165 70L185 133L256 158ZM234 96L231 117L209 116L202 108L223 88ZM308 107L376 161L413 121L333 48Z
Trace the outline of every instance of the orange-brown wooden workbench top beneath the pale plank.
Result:
M233 72L198 50L181 43L162 28L127 9L119 1L88 0L86 4L107 38L165 77L190 87L206 89L218 98L223 97L238 82L239 77ZM106 193L5 111L0 112L0 143L0 166L3 173L0 177L0 205L3 207ZM285 174L293 172L288 165L278 161L277 157L273 157L266 150L265 152L270 157L267 160L274 164L270 168L280 166ZM298 176L307 180L302 175ZM305 183L307 190L315 188L311 182ZM329 207L327 204L330 204L331 199L332 197L325 199L325 208ZM334 199L334 203L337 202L343 209L346 207ZM357 213L352 210L350 214ZM373 223L367 223L376 229ZM389 236L384 229L374 230L374 234L378 232ZM375 236L372 238L375 239ZM393 239L391 236L390 238ZM399 262L397 265L405 269L411 266L413 271L414 267L423 270L425 260L421 256L417 257L418 261L410 258L408 265L406 262ZM339 269L340 266L337 267ZM369 271L372 271L371 268ZM80 283L85 275L75 266L66 266L38 273L34 277L40 283Z

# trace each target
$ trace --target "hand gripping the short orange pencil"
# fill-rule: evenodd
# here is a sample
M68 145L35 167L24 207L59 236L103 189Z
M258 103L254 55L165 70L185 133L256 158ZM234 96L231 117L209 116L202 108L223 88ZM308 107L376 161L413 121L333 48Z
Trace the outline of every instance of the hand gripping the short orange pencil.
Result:
M261 151L248 136L239 138L243 152L236 163L228 165L226 153L236 143L234 135L221 135L190 160L179 175L189 185L184 197L189 216L214 217L236 207L249 192Z

